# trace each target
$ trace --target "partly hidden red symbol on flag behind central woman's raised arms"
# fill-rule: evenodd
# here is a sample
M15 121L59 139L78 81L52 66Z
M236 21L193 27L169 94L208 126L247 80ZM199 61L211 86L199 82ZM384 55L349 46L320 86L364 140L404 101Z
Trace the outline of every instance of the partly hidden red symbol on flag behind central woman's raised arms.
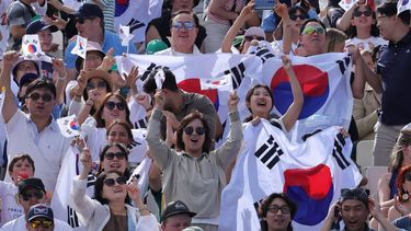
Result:
M182 80L178 83L178 85L179 89L184 90L186 92L194 92L207 96L214 104L214 108L218 111L219 100L217 89L202 90L201 81L197 78Z

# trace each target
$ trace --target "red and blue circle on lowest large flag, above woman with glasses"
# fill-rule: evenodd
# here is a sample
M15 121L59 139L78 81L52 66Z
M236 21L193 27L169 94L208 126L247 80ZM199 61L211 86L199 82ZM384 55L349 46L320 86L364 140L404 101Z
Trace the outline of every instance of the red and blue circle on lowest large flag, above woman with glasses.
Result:
M295 221L316 226L326 219L334 195L329 166L319 164L310 169L286 170L284 178L284 193L298 205Z

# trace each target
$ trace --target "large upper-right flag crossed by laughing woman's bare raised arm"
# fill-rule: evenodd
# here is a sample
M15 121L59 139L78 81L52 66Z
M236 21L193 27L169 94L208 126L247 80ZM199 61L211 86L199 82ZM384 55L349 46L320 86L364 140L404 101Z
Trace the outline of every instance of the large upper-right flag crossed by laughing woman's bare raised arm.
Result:
M351 59L347 54L332 53L311 57L290 57L293 70L301 85L304 106L289 138L302 141L307 134L342 126L350 127L353 96L351 92ZM288 76L279 58L269 58L260 78L253 82L272 89L274 113L283 115L293 103Z

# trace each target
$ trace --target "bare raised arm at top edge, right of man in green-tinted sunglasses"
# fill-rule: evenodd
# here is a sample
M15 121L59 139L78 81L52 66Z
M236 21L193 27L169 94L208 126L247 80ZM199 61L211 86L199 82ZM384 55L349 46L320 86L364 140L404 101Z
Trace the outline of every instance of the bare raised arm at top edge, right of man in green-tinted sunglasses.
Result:
M246 21L252 15L254 9L254 1L250 1L242 10L240 15L232 23L226 36L221 42L221 51L231 53L232 42L235 41L240 28L246 24Z

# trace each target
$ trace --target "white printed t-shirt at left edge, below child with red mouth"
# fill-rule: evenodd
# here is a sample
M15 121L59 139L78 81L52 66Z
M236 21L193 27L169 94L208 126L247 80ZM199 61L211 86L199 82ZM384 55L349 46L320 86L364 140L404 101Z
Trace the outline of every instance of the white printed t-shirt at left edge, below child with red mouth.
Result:
M19 188L13 183L0 182L1 213L0 227L24 215L23 207L18 203Z

